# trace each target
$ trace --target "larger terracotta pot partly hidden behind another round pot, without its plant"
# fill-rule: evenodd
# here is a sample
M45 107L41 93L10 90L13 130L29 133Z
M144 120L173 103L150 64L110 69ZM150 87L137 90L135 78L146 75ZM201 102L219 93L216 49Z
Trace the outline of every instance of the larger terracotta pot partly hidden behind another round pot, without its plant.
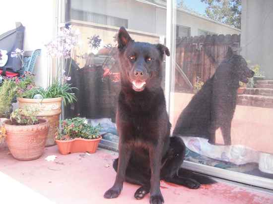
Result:
M59 127L60 114L62 112L62 98L53 99L24 99L17 98L19 107L22 106L37 106L40 108L38 116L47 119L50 127L46 147L56 145L55 133Z

